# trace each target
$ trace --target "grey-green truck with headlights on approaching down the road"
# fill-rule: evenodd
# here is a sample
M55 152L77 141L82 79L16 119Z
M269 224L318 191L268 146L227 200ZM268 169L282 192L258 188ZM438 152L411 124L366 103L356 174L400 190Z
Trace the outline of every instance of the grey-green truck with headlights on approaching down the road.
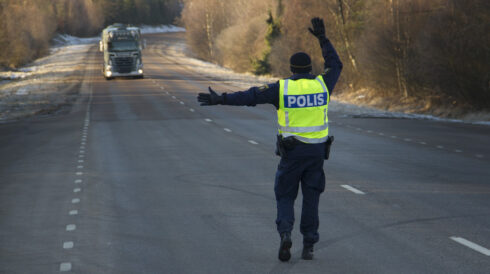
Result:
M102 73L106 80L114 77L143 78L141 52L145 44L137 27L113 24L105 28L99 49L104 53Z

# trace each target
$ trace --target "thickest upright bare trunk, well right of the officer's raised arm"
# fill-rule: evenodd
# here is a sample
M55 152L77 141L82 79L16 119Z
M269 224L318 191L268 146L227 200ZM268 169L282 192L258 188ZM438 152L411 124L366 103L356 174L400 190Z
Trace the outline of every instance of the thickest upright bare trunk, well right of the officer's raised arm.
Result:
M395 69L396 69L396 79L398 82L398 91L403 93L403 96L408 97L407 84L403 72L403 58L406 55L406 51L402 52L402 41L401 41L401 31L400 31L400 3L399 0L390 0L391 2L391 14L393 16L393 27L395 32L393 34L393 40L395 42Z

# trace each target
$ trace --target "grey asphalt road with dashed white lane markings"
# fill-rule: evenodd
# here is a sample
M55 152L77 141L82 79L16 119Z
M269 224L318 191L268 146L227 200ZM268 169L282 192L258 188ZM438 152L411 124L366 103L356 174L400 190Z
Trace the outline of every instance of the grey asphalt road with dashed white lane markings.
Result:
M148 40L145 79L94 46L75 105L0 124L0 273L490 273L490 127L330 112L315 259L296 224L281 263L274 108L198 106L236 88Z

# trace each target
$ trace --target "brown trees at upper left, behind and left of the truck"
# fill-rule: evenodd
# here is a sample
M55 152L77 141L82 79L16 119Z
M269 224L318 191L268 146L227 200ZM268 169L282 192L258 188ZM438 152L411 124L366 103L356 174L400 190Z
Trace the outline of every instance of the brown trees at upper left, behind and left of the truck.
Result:
M115 22L170 24L179 0L0 0L0 68L47 52L56 33L92 36Z

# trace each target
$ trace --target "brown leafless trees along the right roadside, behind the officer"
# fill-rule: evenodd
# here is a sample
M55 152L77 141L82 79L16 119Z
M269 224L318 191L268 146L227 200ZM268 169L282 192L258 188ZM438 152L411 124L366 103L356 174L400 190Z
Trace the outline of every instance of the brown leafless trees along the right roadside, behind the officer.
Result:
M338 90L490 109L488 0L184 0L187 40L200 58L237 71L287 76L306 51L322 71L310 19L325 20L344 63Z

